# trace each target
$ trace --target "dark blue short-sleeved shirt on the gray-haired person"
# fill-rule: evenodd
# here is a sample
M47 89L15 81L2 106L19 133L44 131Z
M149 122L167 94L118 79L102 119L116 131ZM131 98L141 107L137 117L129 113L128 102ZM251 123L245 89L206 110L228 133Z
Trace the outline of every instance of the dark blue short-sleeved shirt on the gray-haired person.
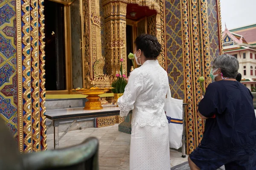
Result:
M233 154L256 152L253 95L243 84L229 80L209 84L198 111L209 118L202 145ZM216 117L211 118L214 115Z

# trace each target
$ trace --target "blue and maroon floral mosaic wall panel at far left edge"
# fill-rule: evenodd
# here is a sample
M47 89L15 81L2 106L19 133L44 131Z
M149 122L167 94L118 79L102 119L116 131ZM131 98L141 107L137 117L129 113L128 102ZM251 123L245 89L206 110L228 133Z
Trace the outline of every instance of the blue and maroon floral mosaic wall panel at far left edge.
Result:
M0 117L18 140L16 2L0 1Z

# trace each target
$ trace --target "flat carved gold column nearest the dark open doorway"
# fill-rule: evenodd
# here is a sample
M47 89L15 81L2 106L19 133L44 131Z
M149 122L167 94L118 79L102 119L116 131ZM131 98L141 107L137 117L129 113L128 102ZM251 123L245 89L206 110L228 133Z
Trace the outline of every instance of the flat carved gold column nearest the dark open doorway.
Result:
M99 0L86 0L82 4L82 48L84 51L84 86L94 81L104 81L102 77L105 65L102 57L101 18ZM97 84L97 83L96 83ZM101 84L101 83L98 83Z

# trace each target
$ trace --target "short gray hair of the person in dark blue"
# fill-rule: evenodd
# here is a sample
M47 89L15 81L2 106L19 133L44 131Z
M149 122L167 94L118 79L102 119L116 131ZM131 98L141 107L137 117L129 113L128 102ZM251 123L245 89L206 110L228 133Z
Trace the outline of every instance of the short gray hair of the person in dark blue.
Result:
M214 59L212 68L220 68L223 77L236 79L239 62L236 57L229 54L222 54Z

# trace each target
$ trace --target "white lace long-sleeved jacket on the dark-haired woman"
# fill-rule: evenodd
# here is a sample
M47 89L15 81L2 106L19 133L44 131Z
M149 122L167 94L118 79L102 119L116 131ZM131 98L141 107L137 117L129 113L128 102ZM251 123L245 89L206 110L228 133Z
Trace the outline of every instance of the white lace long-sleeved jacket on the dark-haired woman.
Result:
M147 60L131 72L125 93L118 99L120 116L133 110L132 124L164 126L168 123L163 110L169 81L157 60Z

